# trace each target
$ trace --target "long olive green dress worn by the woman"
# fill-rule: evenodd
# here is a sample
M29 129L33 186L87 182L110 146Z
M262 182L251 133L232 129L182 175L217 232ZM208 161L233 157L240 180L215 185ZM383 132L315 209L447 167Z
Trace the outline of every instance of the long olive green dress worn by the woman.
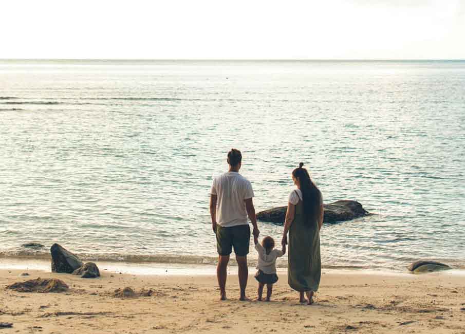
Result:
M318 221L306 224L304 203L299 197L294 220L289 229L287 277L296 291L317 291L320 286L321 257Z

